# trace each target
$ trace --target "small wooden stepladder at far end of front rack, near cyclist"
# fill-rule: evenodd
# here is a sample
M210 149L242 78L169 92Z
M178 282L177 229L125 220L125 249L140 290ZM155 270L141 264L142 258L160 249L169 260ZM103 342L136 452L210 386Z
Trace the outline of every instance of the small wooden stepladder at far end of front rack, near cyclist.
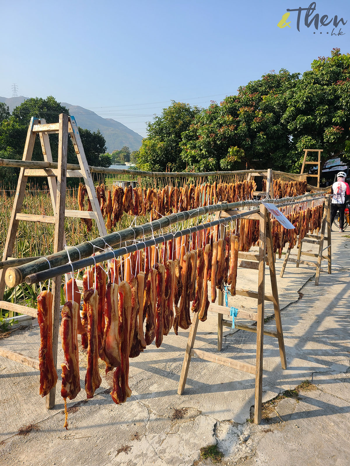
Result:
M326 235L326 225L327 225L327 235ZM324 240L327 241L327 247L323 247ZM303 243L311 243L317 244L318 246L318 253L305 253L302 252L302 244ZM327 249L327 256L323 255L323 251ZM296 267L299 267L299 264L309 265L311 267L316 267L316 276L315 276L315 285L318 285L320 280L320 271L321 271L321 262L322 259L327 259L328 261L328 273L332 273L332 244L331 244L331 233L330 233L330 195L326 196L326 200L324 203L323 215L322 215L322 224L320 234L306 234L305 237L301 240L300 246L298 248L297 258L293 259L289 257L291 249L288 248L286 257L284 258L283 265L280 271L280 277L283 277L284 271L287 266L288 260L290 262L295 262ZM301 255L310 256L317 258L317 262L312 262L308 260L301 260Z

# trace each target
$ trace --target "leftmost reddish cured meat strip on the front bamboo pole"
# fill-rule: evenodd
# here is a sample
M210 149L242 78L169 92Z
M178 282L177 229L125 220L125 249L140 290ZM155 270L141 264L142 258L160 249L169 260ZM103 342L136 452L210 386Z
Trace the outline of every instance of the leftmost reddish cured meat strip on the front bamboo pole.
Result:
M45 397L56 386L57 371L52 355L52 300L50 291L42 291L37 297L38 323L40 329L39 370L40 390L39 394Z

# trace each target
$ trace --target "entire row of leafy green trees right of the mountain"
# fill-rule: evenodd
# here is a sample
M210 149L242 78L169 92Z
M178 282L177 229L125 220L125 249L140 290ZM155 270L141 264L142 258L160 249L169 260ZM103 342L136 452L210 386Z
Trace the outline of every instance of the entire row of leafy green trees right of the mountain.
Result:
M303 149L350 160L350 54L334 48L300 73L274 70L207 109L173 102L147 126L142 170L299 171Z

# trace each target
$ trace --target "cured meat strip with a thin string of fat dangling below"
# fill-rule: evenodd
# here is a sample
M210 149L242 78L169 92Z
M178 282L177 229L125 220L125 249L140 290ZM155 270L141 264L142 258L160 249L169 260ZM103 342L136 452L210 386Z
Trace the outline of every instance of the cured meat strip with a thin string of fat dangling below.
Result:
M68 301L64 304L61 315L60 336L64 360L62 368L62 386L61 396L64 399L65 422L64 427L68 428L68 413L66 400L73 400L80 391L79 375L79 354L78 354L78 313L79 305L77 302Z

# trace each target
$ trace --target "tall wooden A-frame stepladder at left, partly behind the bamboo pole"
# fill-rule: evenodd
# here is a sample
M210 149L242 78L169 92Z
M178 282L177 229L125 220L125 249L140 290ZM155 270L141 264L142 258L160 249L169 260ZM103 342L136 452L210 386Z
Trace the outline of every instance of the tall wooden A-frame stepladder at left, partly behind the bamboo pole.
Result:
M7 231L7 238L3 253L3 260L11 257L14 249L14 242L18 230L19 221L32 221L32 222L43 222L53 223L55 225L54 231L54 254L63 249L65 243L64 235L64 218L75 217L75 218L90 218L95 219L98 225L99 234L107 234L105 222L101 213L100 206L98 204L95 188L91 178L89 165L87 163L83 144L79 135L77 123L74 117L69 117L63 113L59 116L58 123L46 123L44 119L39 120L38 118L32 117L28 132L26 143L23 151L22 160L31 160L33 154L33 148L35 143L35 137L37 134L40 136L40 143L42 146L42 154L44 161L52 162L51 147L49 143L49 134L58 133L58 164L57 169L28 169L21 168L16 195L14 198L14 205L12 208L10 223ZM67 154L68 154L68 135L72 140L77 159L79 161L80 170L69 170L67 171ZM21 213L23 199L26 192L26 185L28 177L47 177L50 197L53 207L53 216L49 215L36 215ZM66 183L67 176L74 178L84 178L86 190L91 201L92 212L79 211L79 210L66 210ZM57 184L56 184L57 178ZM52 335L52 349L55 367L57 366L57 347L58 347L58 327L60 317L60 301L61 301L61 276L53 279L52 293L53 293L53 335ZM5 291L5 269L0 270L0 299L3 299ZM32 317L37 316L37 309L30 308L28 306L21 306L19 304L10 303L7 301L0 301L0 308L7 309L11 312L19 312L21 314L31 315ZM29 356L16 353L15 351L0 349L0 355L12 359L14 361L21 362L30 367L35 367L39 370L39 361ZM48 409L55 406L55 389L52 389L46 397L46 407Z

